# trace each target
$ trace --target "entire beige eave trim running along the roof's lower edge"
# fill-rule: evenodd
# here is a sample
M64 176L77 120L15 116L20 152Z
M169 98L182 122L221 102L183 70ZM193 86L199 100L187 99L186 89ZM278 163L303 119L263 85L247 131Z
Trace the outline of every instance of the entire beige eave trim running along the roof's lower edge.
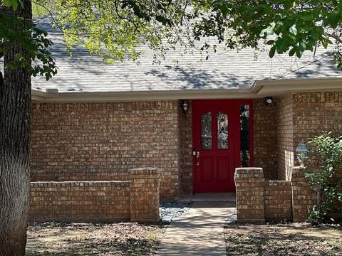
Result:
M255 80L249 89L59 92L32 90L33 102L115 102L139 100L254 99L288 92L342 91L342 78Z

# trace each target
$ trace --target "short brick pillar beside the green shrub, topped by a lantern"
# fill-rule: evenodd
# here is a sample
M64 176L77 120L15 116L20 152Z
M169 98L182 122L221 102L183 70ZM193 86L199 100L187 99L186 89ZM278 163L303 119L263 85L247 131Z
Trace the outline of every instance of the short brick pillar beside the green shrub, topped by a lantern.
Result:
M316 204L316 192L309 187L304 177L305 169L292 168L290 176L292 186L292 215L294 222L303 222L309 216L309 210Z

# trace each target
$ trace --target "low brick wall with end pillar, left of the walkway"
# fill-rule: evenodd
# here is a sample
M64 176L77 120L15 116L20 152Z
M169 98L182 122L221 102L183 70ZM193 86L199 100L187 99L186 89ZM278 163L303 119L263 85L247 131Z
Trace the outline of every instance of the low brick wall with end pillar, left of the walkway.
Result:
M30 220L159 221L159 169L132 169L130 181L31 182Z

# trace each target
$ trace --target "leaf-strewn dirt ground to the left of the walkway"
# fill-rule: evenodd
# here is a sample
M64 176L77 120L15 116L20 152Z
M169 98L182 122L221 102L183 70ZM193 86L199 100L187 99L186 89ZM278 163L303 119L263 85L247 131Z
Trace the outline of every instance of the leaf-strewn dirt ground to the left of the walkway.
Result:
M26 256L155 255L163 230L137 223L30 223Z

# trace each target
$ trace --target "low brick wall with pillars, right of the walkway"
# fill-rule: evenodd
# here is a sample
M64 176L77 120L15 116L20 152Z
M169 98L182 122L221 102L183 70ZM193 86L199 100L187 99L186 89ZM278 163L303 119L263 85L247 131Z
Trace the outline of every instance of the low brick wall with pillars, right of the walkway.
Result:
M265 181L261 168L237 168L235 186L240 223L291 219L302 222L316 198L301 167L292 168L290 181Z

